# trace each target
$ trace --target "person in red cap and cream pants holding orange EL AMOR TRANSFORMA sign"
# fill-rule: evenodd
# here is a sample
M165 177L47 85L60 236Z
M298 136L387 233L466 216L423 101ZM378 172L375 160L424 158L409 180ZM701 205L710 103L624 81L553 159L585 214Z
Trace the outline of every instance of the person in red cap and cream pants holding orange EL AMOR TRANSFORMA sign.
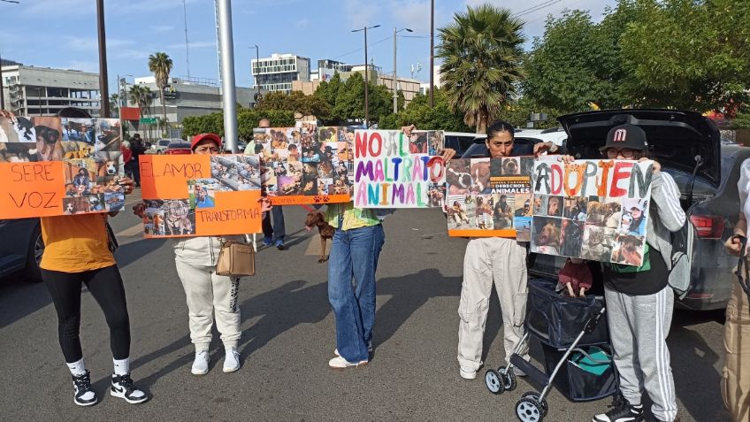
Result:
M193 154L218 154L221 150L221 138L217 134L196 134L190 147ZM271 210L267 199L261 201L264 213ZM142 205L134 207L134 212L142 216ZM244 241L241 235L222 236L222 239ZM237 350L241 337L240 307L237 303L240 279L216 273L220 249L219 238L213 236L185 238L174 244L174 262L188 300L190 340L195 344L191 372L195 375L209 372L209 345L214 315L226 352L224 372L240 369L240 352Z

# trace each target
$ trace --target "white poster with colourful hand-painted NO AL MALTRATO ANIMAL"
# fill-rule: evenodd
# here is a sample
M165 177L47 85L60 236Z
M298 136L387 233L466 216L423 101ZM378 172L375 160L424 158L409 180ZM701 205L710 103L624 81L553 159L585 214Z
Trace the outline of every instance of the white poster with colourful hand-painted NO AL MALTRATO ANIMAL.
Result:
M357 208L441 206L435 199L445 189L441 131L357 130L354 144Z

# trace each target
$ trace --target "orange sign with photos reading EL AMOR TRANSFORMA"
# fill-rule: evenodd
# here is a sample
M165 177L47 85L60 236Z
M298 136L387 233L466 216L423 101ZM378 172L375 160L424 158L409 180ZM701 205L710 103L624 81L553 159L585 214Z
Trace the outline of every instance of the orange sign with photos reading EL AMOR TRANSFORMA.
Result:
M147 238L261 231L260 157L142 155Z

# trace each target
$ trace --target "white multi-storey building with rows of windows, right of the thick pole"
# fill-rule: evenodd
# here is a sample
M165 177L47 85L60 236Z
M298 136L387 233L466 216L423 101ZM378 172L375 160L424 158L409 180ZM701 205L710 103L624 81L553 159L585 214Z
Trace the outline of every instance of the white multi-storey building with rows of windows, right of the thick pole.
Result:
M269 91L292 92L293 81L310 81L310 58L295 54L272 54L270 58L253 58L250 62L254 88Z

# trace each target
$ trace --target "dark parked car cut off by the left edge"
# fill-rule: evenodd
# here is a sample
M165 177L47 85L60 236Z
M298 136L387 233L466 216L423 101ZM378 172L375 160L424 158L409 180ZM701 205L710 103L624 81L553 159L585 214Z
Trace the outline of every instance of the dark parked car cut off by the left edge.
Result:
M0 219L0 277L22 272L30 281L42 281L44 242L39 219Z

